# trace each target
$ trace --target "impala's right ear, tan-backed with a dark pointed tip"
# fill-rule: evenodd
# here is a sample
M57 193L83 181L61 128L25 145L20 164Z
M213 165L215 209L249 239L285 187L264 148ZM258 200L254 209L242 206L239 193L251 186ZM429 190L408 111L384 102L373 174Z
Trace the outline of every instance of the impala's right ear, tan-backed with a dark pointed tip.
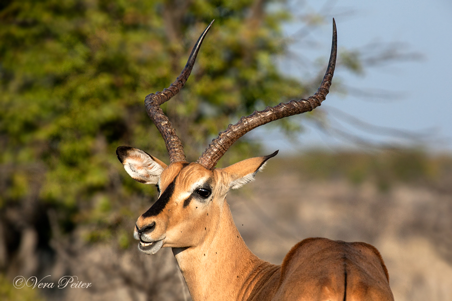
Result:
M267 160L275 157L278 152L279 150L265 157L250 158L224 168L223 172L231 177L230 189L238 189L254 181L254 176L264 168Z

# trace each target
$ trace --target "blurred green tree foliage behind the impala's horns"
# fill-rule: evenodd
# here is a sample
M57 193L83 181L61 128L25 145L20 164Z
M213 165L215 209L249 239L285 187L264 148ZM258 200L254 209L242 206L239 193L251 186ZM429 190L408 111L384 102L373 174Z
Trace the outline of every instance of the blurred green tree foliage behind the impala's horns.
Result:
M149 188L129 179L116 147L133 145L165 160L143 100L177 77L212 19L191 78L163 106L189 160L240 116L305 92L276 67L285 50L281 24L290 14L273 4L268 10L251 0L3 3L0 206L38 200L57 209L63 230L86 225L88 241L120 237L126 247L114 232L136 217L130 202L143 200ZM238 147L243 155L249 149Z

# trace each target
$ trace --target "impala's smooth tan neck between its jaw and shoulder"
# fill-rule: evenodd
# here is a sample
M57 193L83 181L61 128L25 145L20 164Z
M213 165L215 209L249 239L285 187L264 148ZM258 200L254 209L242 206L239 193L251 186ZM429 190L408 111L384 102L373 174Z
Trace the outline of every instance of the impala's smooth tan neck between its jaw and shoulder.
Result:
M225 201L216 229L202 244L173 253L193 301L246 300L260 279L278 269L250 251Z

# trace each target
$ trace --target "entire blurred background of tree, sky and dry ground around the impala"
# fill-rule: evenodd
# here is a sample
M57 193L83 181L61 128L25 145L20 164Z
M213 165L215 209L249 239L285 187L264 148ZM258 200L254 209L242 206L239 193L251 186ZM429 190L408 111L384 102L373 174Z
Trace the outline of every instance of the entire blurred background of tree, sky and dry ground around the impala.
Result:
M134 223L156 191L116 148L167 162L143 100L178 76L212 19L186 86L162 106L189 161L240 116L315 92L332 17L327 100L244 136L218 164L281 149L231 192L236 224L277 264L306 237L371 243L396 300L452 300L446 0L2 1L0 298L189 300L171 250L137 251ZM18 289L19 275L92 286Z

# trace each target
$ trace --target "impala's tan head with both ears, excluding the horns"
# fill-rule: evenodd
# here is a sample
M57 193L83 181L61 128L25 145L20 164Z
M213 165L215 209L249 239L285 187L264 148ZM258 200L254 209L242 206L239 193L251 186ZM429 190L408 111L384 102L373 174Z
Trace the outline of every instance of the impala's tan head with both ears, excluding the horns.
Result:
M139 249L154 254L161 247L200 244L218 222L228 191L253 180L267 157L252 158L224 169L209 170L197 162L166 166L140 149L121 146L118 157L135 180L155 184L159 198L135 226Z

